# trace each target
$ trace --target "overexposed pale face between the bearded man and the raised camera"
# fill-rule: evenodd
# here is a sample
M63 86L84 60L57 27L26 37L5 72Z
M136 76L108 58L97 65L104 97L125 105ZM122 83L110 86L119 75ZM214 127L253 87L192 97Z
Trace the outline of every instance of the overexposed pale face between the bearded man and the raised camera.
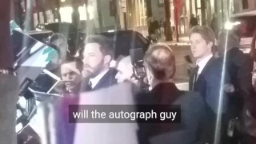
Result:
M118 74L116 74L115 78L118 80L118 83L126 81L134 82L131 80L131 76L133 75L131 64L126 64L121 61L118 63L117 70Z

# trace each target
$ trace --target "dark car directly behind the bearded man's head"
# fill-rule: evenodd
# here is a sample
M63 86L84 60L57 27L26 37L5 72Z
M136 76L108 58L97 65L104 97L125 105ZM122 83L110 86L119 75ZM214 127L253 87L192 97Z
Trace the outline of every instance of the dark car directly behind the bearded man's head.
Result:
M134 30L118 30L99 33L114 41L114 58L128 56L130 49L142 48L144 53L150 46L150 40Z

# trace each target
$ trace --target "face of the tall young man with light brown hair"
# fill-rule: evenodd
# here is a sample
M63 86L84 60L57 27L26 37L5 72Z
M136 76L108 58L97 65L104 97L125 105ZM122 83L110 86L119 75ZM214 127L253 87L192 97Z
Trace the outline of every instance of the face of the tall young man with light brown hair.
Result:
M206 42L205 39L202 38L201 34L194 33L190 35L191 42L191 52L194 58L204 58L211 53L211 49L213 46L212 42Z

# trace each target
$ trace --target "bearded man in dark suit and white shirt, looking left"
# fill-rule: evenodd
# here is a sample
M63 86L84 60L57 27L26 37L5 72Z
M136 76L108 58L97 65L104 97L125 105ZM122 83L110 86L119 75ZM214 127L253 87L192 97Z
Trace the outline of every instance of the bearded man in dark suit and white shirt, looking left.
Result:
M114 50L112 42L102 35L86 38L79 54L84 62L82 91L99 90L116 84L117 70L110 68Z

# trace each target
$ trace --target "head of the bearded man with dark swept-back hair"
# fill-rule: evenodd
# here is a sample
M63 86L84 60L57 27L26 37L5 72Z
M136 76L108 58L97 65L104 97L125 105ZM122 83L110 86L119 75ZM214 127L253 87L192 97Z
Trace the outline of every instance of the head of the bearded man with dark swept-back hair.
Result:
M85 45L79 52L84 62L83 76L94 78L110 67L114 58L112 42L102 35L93 35L86 38Z

